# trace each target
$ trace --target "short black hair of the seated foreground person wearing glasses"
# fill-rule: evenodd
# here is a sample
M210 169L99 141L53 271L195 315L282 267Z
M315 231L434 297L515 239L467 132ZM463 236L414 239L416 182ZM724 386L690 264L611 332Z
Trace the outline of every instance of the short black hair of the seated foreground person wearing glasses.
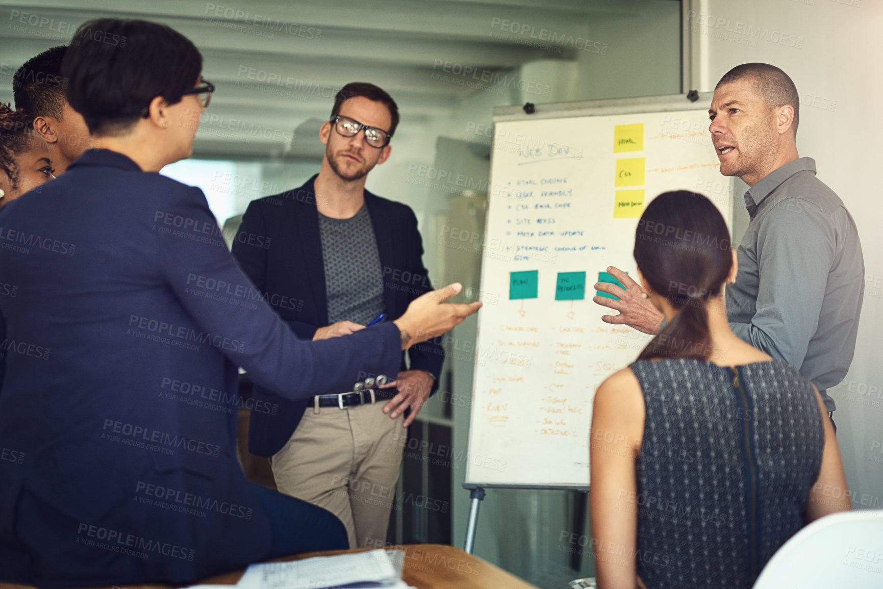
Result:
M94 19L73 34L61 64L67 100L93 135L120 135L156 96L181 100L202 71L199 49L170 26Z

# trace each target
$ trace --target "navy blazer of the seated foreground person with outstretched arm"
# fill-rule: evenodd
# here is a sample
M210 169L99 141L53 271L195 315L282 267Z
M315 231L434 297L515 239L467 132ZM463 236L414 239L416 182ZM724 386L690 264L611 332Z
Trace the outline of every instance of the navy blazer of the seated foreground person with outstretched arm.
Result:
M263 558L237 366L297 399L401 363L391 323L299 339L199 189L108 150L0 209L0 276L4 581L184 584Z

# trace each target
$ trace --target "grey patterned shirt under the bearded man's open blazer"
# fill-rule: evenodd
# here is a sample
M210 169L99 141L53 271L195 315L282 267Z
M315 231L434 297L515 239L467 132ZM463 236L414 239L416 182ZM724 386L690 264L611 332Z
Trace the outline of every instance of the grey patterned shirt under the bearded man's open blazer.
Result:
M328 324L354 321L366 325L383 313L383 274L377 238L368 208L349 219L319 214Z

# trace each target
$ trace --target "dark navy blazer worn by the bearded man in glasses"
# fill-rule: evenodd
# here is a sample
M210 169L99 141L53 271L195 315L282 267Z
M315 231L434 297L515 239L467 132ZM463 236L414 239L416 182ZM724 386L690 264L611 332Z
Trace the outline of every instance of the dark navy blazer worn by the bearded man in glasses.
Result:
M294 333L313 339L316 329L328 325L328 294L319 232L319 212L313 191L315 176L305 185L286 193L253 200L245 210L233 241L233 255L245 274L263 292L276 313ZM383 302L393 321L408 304L433 290L421 257L423 243L417 230L417 217L407 205L383 199L365 191L365 202L380 255L383 272ZM412 370L434 374L433 392L438 386L444 361L442 345L418 344L408 351ZM401 370L406 370L404 352ZM395 377L396 373L387 374ZM358 379L364 380L365 376ZM352 390L348 386L335 392ZM252 412L249 449L258 456L271 457L283 448L298 427L306 409L304 401L285 401L272 391L256 386L255 399L279 405L279 412Z

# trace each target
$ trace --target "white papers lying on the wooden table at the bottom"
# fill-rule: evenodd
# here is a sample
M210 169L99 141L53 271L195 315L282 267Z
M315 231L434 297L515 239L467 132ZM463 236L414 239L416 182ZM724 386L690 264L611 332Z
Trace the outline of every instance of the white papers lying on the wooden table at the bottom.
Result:
M316 556L289 563L252 564L236 586L238 589L408 587L399 578L396 567L384 550Z

